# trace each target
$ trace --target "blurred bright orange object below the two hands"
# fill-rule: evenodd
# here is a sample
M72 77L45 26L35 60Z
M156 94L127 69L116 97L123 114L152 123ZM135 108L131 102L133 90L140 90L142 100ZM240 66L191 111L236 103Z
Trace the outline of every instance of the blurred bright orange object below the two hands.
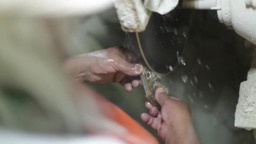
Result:
M99 102L101 112L110 120L115 121L128 130L129 133L127 135L122 137L119 136L117 137L118 139L122 139L129 144L159 144L157 139L155 139L152 134L144 129L126 112L105 99L103 96L99 95L99 93L96 93L95 91L91 92L93 93L93 96L96 98L97 102Z

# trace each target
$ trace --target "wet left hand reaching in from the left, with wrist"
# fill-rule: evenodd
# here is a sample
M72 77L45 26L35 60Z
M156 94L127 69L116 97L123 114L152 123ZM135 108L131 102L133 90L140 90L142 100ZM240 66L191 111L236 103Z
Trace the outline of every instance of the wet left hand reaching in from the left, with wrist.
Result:
M134 64L135 56L122 47L107 48L69 58L65 68L79 80L93 83L117 82L131 91L141 84L141 64Z

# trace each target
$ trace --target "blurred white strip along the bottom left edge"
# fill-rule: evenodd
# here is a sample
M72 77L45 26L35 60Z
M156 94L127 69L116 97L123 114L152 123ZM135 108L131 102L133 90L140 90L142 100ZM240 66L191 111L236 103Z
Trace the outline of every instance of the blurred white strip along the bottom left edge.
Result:
M125 144L109 136L33 134L0 128L1 144Z

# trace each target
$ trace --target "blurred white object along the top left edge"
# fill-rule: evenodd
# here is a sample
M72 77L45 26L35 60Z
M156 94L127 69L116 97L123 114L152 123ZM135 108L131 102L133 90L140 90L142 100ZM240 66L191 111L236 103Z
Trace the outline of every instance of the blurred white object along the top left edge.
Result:
M0 13L7 16L89 15L113 6L113 0L0 0Z

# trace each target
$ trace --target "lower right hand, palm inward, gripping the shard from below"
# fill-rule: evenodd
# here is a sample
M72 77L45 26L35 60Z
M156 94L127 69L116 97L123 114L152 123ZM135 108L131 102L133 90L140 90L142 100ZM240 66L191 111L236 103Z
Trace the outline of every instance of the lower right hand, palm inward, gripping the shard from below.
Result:
M149 102L145 106L149 114L142 113L141 120L153 129L166 144L199 144L197 134L192 125L189 105L158 88L155 99L161 106L159 112Z

